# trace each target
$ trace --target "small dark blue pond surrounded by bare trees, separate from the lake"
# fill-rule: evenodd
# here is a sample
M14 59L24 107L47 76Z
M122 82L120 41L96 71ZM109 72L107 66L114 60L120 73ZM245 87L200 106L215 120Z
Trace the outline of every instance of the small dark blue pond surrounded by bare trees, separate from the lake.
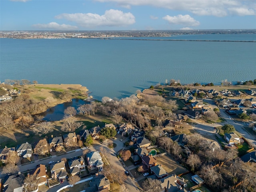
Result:
M39 115L44 116L43 120L46 121L59 121L64 117L64 110L68 107L78 108L80 105L89 104L89 102L85 102L81 99L72 99L71 102L66 102L62 104L58 104L48 110L46 112L40 113Z

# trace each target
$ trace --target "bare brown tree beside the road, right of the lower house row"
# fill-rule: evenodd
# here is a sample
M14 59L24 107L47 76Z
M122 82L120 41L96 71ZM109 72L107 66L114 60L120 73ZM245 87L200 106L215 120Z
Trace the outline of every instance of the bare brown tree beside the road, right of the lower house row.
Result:
M124 171L116 168L112 164L109 166L104 166L104 175L112 182L118 182L119 184L123 184L124 182Z

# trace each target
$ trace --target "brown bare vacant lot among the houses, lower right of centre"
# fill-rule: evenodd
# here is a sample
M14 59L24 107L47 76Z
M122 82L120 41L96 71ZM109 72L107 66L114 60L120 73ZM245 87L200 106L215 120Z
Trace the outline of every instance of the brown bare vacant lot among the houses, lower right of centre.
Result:
M164 170L170 175L170 174L181 174L184 172L187 172L187 170L182 167L180 164L178 164L170 155L163 155L160 157L156 157L157 163L159 165L162 165Z

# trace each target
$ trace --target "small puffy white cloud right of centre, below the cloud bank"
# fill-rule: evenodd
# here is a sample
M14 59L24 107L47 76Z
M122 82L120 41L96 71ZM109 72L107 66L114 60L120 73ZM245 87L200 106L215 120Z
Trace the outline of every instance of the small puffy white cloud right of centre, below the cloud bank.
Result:
M170 24L176 24L176 25L186 25L186 26L200 25L200 22L190 17L190 15L177 15L173 17L166 15L163 17L163 19L168 21Z

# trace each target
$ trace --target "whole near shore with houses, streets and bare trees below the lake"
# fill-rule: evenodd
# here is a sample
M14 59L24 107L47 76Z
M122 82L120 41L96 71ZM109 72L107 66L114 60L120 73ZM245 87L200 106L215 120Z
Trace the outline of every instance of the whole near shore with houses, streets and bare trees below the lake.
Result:
M70 106L74 100L82 102ZM62 118L46 120L59 105ZM164 191L171 183L176 191L254 191L255 130L256 80L170 80L101 101L79 84L0 84L0 169L8 188ZM11 186L14 180L22 183Z

